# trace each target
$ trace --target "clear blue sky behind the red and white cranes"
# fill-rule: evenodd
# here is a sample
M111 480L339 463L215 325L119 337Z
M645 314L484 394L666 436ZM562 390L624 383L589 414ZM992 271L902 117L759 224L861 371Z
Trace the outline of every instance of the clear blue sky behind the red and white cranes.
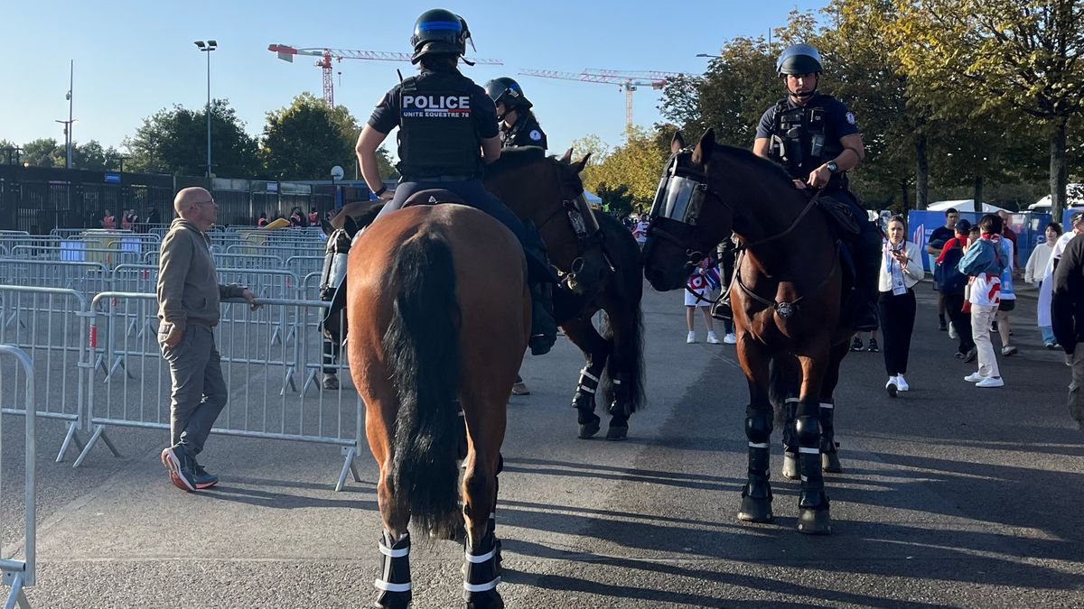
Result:
M464 67L479 85L498 76L519 80L554 151L594 133L621 142L624 93L617 86L519 76L522 68L583 68L701 73L726 39L766 35L793 9L818 9L826 0L573 1L519 2L297 2L297 1L105 1L0 0L0 139L25 143L42 137L63 141L68 61L75 60L75 139L120 145L143 118L163 107L206 102L206 57L194 40L216 39L210 57L211 95L229 99L258 135L268 111L301 91L322 94L320 68L308 59L279 61L268 44L409 51L414 20L441 7L463 15L477 55L503 66ZM335 101L363 122L395 82L405 62L344 60L335 67ZM341 78L341 85L339 85ZM660 120L659 92L634 95L634 121Z

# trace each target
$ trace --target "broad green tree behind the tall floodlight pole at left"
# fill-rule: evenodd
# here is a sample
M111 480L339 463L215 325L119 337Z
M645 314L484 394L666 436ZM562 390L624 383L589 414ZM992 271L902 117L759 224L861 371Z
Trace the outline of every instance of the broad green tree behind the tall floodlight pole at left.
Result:
M210 108L211 172L216 176L255 178L261 173L256 139L227 100L214 100ZM207 172L207 115L180 105L163 108L143 119L126 138L126 169L149 173L204 176Z

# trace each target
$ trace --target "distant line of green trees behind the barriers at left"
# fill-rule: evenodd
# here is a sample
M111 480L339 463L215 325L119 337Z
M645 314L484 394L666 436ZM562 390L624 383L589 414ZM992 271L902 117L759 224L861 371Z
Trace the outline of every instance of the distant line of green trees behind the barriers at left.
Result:
M210 105L211 172L223 178L266 180L327 180L331 168L354 166L354 142L361 127L344 106L328 108L323 100L305 92L291 105L267 113L259 138L227 100ZM0 150L14 144L0 140ZM21 163L65 167L64 143L42 138L21 146ZM125 170L143 173L204 176L207 172L206 107L180 105L163 108L143 119L120 150L103 148L98 141L73 143L75 169ZM396 176L391 158L380 148L380 172ZM5 160L5 159L0 159Z

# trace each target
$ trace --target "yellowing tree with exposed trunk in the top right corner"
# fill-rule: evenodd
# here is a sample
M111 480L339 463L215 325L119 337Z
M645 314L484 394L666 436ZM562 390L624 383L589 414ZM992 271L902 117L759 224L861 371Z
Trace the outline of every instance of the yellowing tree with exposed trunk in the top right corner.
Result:
M1049 144L1054 213L1064 206L1070 122L1084 113L1084 4L898 0L898 56L930 100L972 115L1033 117Z

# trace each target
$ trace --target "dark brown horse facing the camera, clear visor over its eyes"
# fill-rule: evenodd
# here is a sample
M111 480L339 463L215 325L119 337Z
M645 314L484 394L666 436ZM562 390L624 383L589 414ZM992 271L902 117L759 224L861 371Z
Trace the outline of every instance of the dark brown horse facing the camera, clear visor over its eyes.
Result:
M816 209L817 197L795 189L779 166L717 145L711 130L692 151L678 134L674 151L651 210L644 275L656 289L681 288L692 265L732 231L740 239L731 299L750 404L749 478L738 518L773 519L770 392L796 386L795 423L785 439L797 444L802 481L798 530L829 533L822 429L830 431L833 392L853 334L840 321L849 286L834 229Z

